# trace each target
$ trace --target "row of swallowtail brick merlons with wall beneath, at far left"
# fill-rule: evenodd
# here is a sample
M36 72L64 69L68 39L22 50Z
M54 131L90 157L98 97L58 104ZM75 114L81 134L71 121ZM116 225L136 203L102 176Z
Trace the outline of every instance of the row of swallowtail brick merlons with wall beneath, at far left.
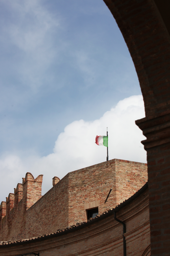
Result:
M0 238L15 239L22 236L26 223L26 211L41 198L43 175L34 179L31 173L26 173L23 184L18 183L14 194L10 193L6 203L0 207Z

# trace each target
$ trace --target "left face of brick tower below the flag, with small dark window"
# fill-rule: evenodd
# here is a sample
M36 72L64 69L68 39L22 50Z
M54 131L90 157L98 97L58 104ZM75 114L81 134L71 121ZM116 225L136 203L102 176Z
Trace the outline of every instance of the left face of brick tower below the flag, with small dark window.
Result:
M69 225L87 221L87 209L98 207L101 214L115 204L115 161L109 162L69 173Z

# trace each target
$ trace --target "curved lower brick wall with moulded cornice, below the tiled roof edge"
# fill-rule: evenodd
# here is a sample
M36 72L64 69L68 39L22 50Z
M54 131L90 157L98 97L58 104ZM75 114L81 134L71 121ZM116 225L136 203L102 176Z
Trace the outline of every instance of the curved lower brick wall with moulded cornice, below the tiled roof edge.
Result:
M150 256L149 199L147 190L117 213L126 223L126 255ZM40 256L123 256L123 226L113 211L86 224L53 236L0 246L0 256L31 251ZM148 253L145 254L145 251Z

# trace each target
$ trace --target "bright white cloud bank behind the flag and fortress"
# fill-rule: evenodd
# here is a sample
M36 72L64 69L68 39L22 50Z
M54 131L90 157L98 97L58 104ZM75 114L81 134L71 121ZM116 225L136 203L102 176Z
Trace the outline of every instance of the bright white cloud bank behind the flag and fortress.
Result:
M44 157L6 155L0 160L1 199L13 192L26 171L34 178L43 174L43 194L52 187L52 178L64 177L68 172L106 161L106 147L95 144L96 135L109 133L109 160L113 158L146 163L146 151L141 140L145 137L135 120L145 116L142 95L131 96L118 102L94 121L74 121L58 136L52 154Z

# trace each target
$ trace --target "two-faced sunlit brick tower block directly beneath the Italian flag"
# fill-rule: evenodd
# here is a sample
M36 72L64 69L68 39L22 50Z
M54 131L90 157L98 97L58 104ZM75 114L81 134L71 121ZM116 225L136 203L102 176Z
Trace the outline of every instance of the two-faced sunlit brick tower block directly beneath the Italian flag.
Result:
M101 214L115 207L146 182L147 164L119 159L69 173L69 225L87 221L87 209L98 207Z

